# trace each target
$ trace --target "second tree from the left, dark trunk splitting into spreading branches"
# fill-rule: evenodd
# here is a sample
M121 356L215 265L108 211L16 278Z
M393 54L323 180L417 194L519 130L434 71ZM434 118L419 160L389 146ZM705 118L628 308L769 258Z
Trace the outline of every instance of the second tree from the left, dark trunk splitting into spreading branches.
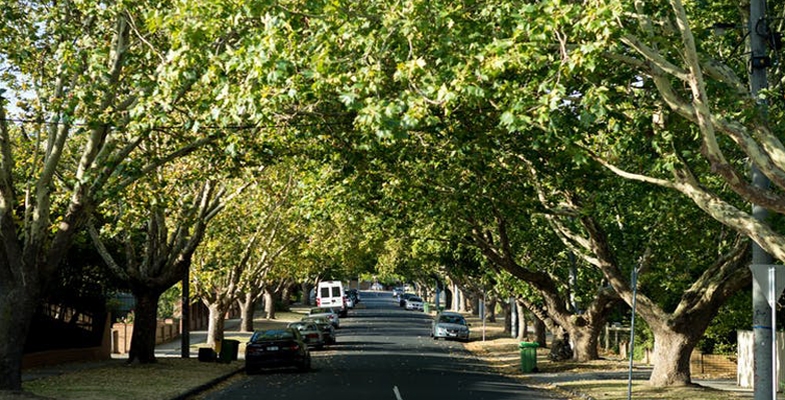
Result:
M103 213L108 221L102 230L123 243L124 254L113 255L99 230L92 223L88 226L109 269L128 284L136 299L129 363L156 361L158 300L183 279L208 224L242 189L225 196L223 187L209 178L201 180L201 169L193 167L180 160L158 176L132 185L134 195L118 202L119 213Z

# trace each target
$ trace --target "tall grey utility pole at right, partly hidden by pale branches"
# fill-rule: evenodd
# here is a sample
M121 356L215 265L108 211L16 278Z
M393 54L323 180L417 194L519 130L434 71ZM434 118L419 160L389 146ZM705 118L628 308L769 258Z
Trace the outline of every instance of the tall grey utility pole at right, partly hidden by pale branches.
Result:
M766 103L759 98L759 92L768 87L766 68L770 64L767 57L766 39L768 26L766 23L766 0L750 0L749 30L750 37L750 94L757 101L760 113L765 118ZM755 165L752 165L752 182L759 188L768 188L769 180ZM768 211L756 204L752 205L755 219L765 220ZM772 264L773 258L757 243L752 243L752 265ZM776 278L775 278L776 279ZM752 329L754 333L754 373L753 385L755 400L774 400L777 396L777 379L774 378L776 366L773 363L774 338L777 327L772 325L773 307L766 297L766 288L761 287L758 279L752 284ZM770 284L774 284L771 282ZM772 304L776 305L776 300Z

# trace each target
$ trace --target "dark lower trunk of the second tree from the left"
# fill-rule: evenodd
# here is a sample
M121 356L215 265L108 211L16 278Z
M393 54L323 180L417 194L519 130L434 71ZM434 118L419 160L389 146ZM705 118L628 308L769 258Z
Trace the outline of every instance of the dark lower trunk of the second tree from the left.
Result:
M151 364L155 359L155 335L158 331L158 299L162 291L146 287L133 288L136 308L134 309L134 333L128 363L138 360Z

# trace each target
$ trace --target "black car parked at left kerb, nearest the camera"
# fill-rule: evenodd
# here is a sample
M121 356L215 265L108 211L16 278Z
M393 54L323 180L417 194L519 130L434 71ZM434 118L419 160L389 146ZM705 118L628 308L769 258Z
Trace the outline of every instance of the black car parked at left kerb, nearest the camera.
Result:
M311 369L311 353L300 332L293 328L254 332L245 346L245 372L282 367Z

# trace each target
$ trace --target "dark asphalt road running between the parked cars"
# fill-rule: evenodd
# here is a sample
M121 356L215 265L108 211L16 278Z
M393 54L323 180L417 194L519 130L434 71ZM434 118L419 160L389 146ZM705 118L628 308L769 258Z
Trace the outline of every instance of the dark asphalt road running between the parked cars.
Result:
M243 376L205 399L558 399L489 374L457 342L434 341L431 318L398 307L390 292L363 292L366 308L341 319L338 343L311 352L313 370Z

